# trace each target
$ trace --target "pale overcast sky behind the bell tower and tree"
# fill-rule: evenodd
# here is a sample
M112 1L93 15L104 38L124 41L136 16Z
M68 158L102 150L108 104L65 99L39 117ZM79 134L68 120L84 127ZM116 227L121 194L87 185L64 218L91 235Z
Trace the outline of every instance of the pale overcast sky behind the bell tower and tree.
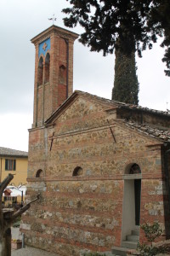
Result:
M0 0L0 147L28 149L28 128L33 119L34 57L31 38L52 26L65 27L61 10L66 0ZM80 33L80 27L72 29ZM164 50L159 44L137 58L139 105L170 108L170 78L163 72ZM92 53L78 41L74 44L74 90L111 99L114 55ZM168 105L167 105L168 102Z

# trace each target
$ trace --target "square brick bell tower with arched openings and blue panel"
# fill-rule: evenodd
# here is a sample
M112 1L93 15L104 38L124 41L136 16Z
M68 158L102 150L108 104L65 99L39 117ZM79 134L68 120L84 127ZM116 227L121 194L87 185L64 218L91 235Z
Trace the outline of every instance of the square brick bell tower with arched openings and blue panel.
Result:
M31 39L36 48L32 128L42 126L71 96L73 44L77 38L77 33L53 25Z

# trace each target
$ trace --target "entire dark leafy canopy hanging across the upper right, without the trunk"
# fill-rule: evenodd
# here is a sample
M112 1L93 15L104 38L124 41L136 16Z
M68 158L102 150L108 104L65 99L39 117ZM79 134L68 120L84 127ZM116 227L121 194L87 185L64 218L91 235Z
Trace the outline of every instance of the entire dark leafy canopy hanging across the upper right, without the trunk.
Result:
M85 30L80 42L92 51L104 55L120 49L130 55L151 49L158 37L167 47L162 61L166 62L170 76L170 3L169 0L66 0L71 8L63 9L68 15L65 26L79 24Z

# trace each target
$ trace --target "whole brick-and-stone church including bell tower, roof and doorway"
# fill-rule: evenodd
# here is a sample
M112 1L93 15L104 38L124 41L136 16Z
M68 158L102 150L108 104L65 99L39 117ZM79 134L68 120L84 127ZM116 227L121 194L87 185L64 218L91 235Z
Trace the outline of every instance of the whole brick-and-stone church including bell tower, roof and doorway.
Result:
M51 26L31 40L27 200L41 196L20 230L28 245L65 256L135 247L145 222L158 221L168 238L170 114L72 93L76 38Z

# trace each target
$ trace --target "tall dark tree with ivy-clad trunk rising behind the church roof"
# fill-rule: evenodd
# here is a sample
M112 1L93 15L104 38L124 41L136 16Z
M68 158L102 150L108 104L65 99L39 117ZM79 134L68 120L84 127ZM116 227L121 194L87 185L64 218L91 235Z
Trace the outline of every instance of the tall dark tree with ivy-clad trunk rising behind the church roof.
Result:
M136 75L135 52L141 57L143 49L152 47L156 35L146 32L151 0L67 0L72 6L63 9L65 26L79 23L79 41L100 50L104 55L116 50L115 84L112 98L138 104L139 83Z

